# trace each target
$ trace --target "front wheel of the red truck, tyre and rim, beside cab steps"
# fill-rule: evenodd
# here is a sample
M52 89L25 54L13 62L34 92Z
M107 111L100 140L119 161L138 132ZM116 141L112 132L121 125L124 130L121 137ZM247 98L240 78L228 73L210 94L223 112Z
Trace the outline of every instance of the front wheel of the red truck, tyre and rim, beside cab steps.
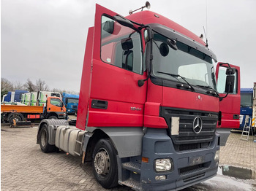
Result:
M93 171L97 182L105 188L118 185L116 149L110 139L100 139L94 147Z

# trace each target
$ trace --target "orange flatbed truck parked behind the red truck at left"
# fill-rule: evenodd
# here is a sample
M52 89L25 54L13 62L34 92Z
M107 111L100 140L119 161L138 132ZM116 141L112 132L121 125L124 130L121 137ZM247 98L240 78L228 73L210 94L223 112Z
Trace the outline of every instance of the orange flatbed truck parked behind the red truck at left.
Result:
M66 108L58 97L48 97L45 106L1 104L1 122L67 119Z

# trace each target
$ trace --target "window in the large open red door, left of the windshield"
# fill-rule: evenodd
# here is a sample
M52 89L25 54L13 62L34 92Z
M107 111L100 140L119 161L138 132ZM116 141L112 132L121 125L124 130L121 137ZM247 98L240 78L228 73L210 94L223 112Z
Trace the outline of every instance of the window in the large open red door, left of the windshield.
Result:
M102 16L101 59L122 69L142 74L140 34Z

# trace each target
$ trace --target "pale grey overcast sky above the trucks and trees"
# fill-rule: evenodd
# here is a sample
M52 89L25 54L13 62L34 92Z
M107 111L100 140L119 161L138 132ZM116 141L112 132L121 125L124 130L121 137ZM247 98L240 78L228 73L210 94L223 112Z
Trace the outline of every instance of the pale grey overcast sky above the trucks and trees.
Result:
M1 77L11 82L45 80L79 92L95 4L128 15L145 1L1 0ZM256 82L255 0L151 0L151 11L200 36L206 28L218 61L240 66L241 87ZM207 13L207 14L206 14ZM207 18L207 19L206 19Z

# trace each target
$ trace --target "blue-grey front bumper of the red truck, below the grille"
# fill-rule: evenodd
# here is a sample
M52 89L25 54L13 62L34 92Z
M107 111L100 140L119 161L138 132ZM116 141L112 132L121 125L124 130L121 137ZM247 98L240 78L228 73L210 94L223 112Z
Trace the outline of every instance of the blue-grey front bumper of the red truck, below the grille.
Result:
M141 190L181 190L210 179L217 174L219 161L214 160L217 150L218 134L206 148L176 152L165 129L148 128L143 138L142 156L149 160L148 163L141 163ZM173 170L161 173L155 171L154 160L159 158L172 158ZM200 158L198 162L197 158ZM157 181L156 176L162 175L166 179Z

